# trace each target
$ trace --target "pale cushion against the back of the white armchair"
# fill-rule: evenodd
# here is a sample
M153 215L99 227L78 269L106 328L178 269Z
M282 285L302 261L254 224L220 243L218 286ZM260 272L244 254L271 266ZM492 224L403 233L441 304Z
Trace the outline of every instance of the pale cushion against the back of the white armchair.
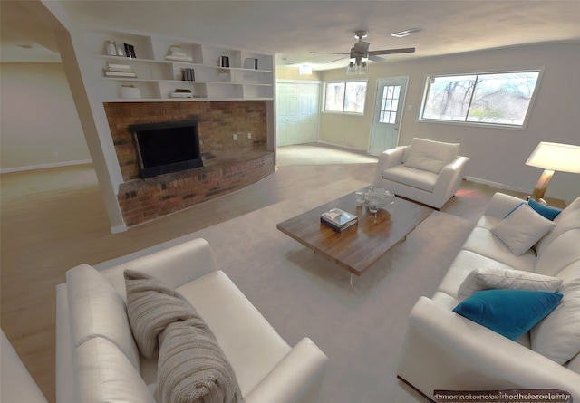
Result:
M457 157L459 143L443 143L428 139L412 139L405 165L439 174Z

